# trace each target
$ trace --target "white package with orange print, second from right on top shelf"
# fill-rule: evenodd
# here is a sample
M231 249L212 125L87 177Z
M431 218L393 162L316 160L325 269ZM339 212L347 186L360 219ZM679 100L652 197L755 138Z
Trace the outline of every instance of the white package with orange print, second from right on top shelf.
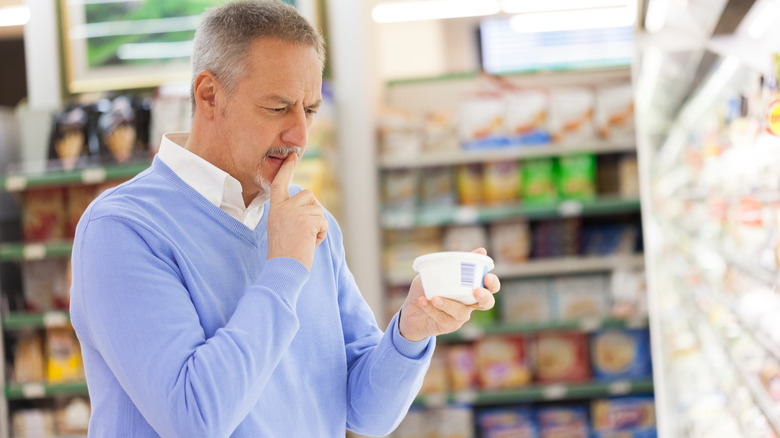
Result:
M595 138L595 95L585 87L550 91L550 136L555 143L576 143Z

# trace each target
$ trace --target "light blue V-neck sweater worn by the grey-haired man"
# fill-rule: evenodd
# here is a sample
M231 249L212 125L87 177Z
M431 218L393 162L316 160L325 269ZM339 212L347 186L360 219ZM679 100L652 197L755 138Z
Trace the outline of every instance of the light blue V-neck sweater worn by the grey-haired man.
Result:
M291 193L300 188L292 187ZM422 383L433 338L383 333L328 234L309 272L162 161L105 192L73 245L71 319L90 437L385 435Z

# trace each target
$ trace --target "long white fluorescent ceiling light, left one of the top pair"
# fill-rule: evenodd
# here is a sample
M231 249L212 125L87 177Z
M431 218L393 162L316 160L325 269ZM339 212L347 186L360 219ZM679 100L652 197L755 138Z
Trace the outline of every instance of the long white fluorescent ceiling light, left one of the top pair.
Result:
M443 18L481 17L501 11L498 0L428 0L380 3L371 17L377 23L439 20Z

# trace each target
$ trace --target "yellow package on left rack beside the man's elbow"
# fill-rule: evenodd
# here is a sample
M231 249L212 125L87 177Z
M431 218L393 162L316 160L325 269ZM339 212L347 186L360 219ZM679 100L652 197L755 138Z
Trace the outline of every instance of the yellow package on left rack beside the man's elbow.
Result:
M46 329L46 379L49 383L84 381L81 349L73 329Z

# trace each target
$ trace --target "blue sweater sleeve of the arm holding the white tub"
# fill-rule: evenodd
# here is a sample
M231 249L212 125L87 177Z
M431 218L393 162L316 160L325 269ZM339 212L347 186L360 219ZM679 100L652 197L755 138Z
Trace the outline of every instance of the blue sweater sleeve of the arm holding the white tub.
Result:
M331 221L329 238L343 251L340 230ZM406 415L422 386L435 338L410 342L398 332L398 314L383 333L363 299L343 258L338 260L339 308L349 367L347 427L357 433L384 436Z

